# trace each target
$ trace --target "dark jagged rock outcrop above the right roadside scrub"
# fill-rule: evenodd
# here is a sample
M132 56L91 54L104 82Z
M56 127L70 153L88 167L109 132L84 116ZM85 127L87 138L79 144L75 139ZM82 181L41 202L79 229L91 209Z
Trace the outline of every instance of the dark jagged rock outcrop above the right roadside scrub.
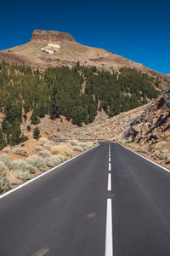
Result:
M128 142L136 143L157 143L166 135L170 135L170 89L133 119L125 132Z

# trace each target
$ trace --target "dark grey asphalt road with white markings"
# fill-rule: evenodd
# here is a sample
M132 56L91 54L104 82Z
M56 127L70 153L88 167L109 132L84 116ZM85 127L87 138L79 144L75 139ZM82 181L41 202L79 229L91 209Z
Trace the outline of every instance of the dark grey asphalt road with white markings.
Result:
M27 255L169 256L170 172L101 143L4 196L0 256Z

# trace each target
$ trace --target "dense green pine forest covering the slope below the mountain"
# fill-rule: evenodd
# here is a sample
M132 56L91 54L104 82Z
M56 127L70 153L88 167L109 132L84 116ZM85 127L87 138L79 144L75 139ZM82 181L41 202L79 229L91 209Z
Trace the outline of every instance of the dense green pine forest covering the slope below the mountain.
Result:
M85 83L85 90L82 84ZM32 111L31 123L38 124L48 114L51 119L64 115L81 126L94 121L98 110L112 117L139 107L155 98L159 82L135 69L123 67L119 73L96 67L50 67L45 73L31 67L0 63L0 149L26 140L20 123Z

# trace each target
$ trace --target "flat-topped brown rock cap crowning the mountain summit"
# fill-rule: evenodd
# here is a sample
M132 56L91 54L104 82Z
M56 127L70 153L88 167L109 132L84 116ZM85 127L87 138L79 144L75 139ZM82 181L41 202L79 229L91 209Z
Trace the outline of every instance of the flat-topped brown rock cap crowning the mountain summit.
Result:
M62 41L74 42L75 39L70 34L65 32L34 30L31 41L57 43Z

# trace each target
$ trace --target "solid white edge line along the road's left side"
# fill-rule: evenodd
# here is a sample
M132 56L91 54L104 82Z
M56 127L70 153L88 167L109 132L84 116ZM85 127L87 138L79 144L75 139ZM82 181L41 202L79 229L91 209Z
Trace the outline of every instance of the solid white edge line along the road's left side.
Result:
M99 147L99 145L95 146L94 148L96 148L96 147ZM89 150L92 150L92 149L93 149L93 148L89 148L88 150L82 152L81 154L87 153ZM66 160L64 163L60 164L59 166L65 165L66 163L68 163L69 161L71 161L71 160L77 158L77 157L80 156L81 154L77 154L76 156L72 157L72 158L69 159L69 160ZM15 190L18 190L18 189L20 189L20 188L26 186L27 184L32 183L32 182L35 181L37 178L40 178L40 177L42 177L42 176L48 174L48 172L54 171L55 169L59 168L59 166L55 166L54 168L48 170L47 172L43 172L42 174L38 175L37 177L33 177L31 180L27 181L26 183L23 183L23 184L19 185L18 187L9 190L8 192L4 193L3 195L0 195L0 199L2 199L2 198L3 198L4 196L6 196L6 195L9 195L9 194L13 193Z

